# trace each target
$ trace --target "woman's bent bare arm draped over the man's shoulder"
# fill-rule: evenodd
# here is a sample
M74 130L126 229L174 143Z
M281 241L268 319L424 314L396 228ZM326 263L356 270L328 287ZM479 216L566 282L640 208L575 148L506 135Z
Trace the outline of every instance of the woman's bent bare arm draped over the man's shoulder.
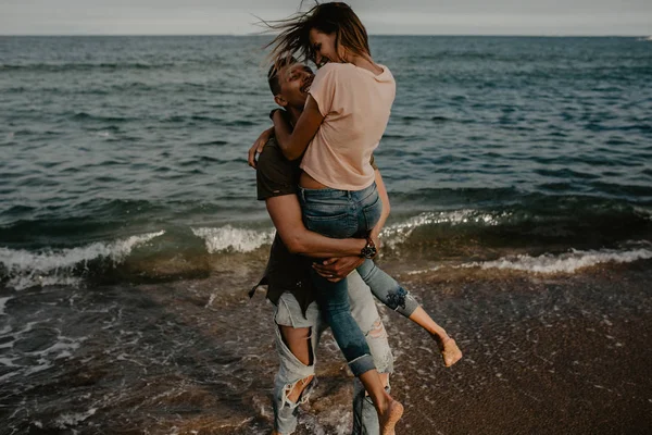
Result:
M322 122L324 122L324 116L319 112L314 98L308 96L305 109L299 116L293 130L279 110L274 112L273 121L276 141L283 154L288 160L297 160L303 156L308 145L319 129Z

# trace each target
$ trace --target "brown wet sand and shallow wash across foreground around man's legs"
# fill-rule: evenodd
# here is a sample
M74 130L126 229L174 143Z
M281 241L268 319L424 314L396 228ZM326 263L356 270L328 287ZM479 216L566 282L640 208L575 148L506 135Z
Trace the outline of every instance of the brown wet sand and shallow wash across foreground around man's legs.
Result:
M443 368L425 333L384 311L405 405L398 434L652 433L651 261L399 275L465 358ZM269 432L276 355L262 294L249 301L212 276L74 295L10 295L7 312L40 303L71 319L60 334L85 338L28 385L8 378L0 434ZM329 335L317 360L297 434L350 433L351 377Z

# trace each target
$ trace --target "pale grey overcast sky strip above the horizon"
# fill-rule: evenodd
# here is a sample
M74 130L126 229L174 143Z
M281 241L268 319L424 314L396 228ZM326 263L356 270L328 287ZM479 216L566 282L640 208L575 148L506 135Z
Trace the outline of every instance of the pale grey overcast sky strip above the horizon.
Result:
M305 4L311 2L305 1ZM652 0L352 0L371 34L652 35ZM244 35L299 0L0 0L0 35Z

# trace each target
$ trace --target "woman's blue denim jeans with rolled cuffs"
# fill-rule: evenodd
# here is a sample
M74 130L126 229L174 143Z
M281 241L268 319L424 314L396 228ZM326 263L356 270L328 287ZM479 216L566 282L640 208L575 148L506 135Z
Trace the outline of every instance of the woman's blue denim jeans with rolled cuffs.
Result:
M306 228L334 238L366 237L383 212L376 184L354 191L300 188L299 200ZM390 308L410 311L408 316L416 309L412 296L373 261L366 260L358 271L374 295ZM364 334L351 316L347 281L331 283L314 271L312 281L319 309L353 374L375 369Z

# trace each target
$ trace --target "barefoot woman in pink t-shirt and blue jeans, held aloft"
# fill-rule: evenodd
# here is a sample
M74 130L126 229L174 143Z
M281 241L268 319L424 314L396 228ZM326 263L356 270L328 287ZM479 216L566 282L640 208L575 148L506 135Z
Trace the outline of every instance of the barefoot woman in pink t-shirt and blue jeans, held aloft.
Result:
M394 309L399 304L405 308L406 300L416 306L396 281L371 261L383 223L383 201L369 161L387 126L396 95L391 73L373 61L366 30L344 3L318 4L271 27L281 30L272 42L278 62L287 63L299 53L319 66L293 130L281 112L273 115L284 154L289 160L303 156L299 197L306 227L335 238L366 238L363 254L367 260L358 269L360 275L379 299L388 303L393 298ZM393 434L403 407L383 387L364 335L351 316L346 281L334 283L316 272L312 278L319 308L353 374L360 377L376 407L383 434ZM417 308L411 310L411 319L414 314L417 323L430 326L444 362L454 363L461 357L454 340Z

